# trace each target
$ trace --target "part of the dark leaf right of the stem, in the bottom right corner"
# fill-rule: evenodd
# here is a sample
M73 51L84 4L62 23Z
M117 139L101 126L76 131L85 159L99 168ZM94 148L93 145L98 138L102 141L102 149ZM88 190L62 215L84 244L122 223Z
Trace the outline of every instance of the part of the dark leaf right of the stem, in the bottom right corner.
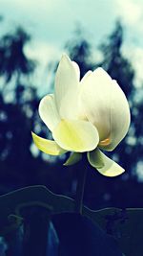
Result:
M84 215L98 223L119 243L125 256L143 255L143 209L107 208L92 211L84 207Z

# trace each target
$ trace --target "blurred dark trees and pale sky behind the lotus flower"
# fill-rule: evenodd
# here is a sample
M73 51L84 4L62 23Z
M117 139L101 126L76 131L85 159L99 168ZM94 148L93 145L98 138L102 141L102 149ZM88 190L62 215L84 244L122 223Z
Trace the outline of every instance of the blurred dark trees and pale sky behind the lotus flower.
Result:
M107 70L132 111L128 135L110 154L126 173L108 178L89 165L85 204L143 207L142 0L0 0L0 28L0 194L44 184L74 198L84 163L63 167L68 155L46 155L31 139L31 130L51 138L37 110L53 92L66 52L79 64L81 78L97 66Z

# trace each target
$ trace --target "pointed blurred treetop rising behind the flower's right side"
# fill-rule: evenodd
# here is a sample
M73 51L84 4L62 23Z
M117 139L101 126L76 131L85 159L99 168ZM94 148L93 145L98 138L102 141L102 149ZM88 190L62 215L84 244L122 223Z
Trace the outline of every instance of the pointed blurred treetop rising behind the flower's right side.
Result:
M129 99L133 92L134 70L132 62L123 55L123 42L124 29L120 21L117 21L112 34L99 46L103 60L98 65L101 65L112 79L118 81Z

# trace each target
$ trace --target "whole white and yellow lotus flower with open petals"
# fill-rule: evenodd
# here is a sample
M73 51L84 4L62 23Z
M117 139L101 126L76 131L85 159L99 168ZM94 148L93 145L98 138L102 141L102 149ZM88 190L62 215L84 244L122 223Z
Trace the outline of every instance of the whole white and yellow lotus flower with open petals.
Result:
M32 132L40 151L72 154L65 165L79 161L82 152L100 174L115 176L125 170L102 151L112 151L125 137L130 126L130 108L117 84L102 68L89 71L80 81L78 65L67 55L61 58L54 94L45 96L39 115L51 130L53 140Z

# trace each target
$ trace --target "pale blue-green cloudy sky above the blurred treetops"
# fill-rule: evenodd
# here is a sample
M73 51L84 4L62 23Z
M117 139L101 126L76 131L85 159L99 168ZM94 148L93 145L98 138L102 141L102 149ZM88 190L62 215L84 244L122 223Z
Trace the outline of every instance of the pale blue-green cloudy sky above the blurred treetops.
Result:
M126 28L124 52L133 59L138 80L143 79L143 0L0 0L0 14L5 31L21 25L32 35L26 51L43 65L60 58L77 23L94 46L120 17Z

